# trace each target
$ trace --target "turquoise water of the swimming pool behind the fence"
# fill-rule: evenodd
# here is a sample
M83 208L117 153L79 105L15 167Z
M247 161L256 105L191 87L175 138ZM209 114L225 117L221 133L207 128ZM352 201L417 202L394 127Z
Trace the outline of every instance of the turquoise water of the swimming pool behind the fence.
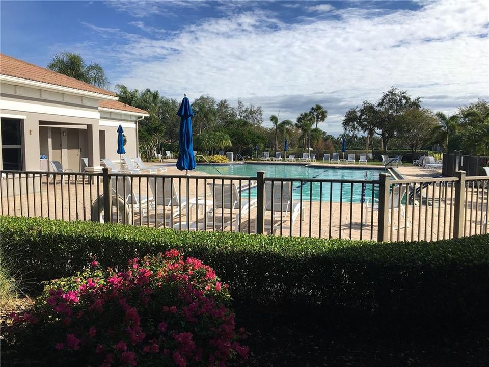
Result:
M264 171L266 178L297 178L292 182L292 197L299 200L322 201L328 202L362 202L372 198L372 185L368 183L319 183L303 182L300 180L307 179L324 179L324 180L359 180L369 181L378 180L381 173L387 172L382 169L371 168L334 168L334 167L308 167L304 165L291 164L239 164L239 165L216 165L223 175L235 175L245 177L256 177L256 172ZM205 172L211 175L219 175L218 172L210 165L197 164L196 171ZM243 182L244 184L244 182ZM280 191L280 182L274 183L274 190ZM285 183L284 183L285 185ZM322 190L321 190L322 186ZM321 195L322 192L322 195ZM243 198L248 197L248 190L243 190ZM251 188L250 196L256 197L256 189ZM375 185L373 196L378 196L378 185Z

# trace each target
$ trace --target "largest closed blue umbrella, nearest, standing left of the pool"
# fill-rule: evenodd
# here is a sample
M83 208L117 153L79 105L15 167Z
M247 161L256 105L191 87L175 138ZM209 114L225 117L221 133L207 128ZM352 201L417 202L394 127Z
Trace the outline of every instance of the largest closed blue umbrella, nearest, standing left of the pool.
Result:
M180 155L177 161L177 168L180 171L195 169L194 143L192 140L192 119L194 111L187 98L187 94L182 99L182 104L178 109L177 116L180 116L179 145Z

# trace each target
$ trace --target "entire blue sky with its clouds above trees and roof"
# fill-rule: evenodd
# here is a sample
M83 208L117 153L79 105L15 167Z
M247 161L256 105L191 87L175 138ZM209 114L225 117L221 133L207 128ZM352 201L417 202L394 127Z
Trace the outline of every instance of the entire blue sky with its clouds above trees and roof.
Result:
M111 87L209 94L280 119L320 103L342 132L390 86L454 113L489 99L489 5L473 1L1 1L2 53L99 62Z

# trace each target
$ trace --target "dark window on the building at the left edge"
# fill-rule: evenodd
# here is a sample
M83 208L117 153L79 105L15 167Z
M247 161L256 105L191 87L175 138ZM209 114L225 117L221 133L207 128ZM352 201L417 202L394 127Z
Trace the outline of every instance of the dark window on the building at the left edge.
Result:
M2 163L4 170L22 170L22 126L21 120L2 119Z

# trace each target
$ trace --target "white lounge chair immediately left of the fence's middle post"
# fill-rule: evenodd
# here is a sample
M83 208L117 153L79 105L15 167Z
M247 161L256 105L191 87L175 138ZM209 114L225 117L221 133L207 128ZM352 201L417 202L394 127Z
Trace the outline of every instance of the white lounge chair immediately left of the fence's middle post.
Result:
M220 226L221 229L224 229L224 227L230 225L231 230L233 230L234 223L234 231L240 231L241 218L248 214L248 211L251 208L256 206L256 199L251 199L248 203L247 199L242 198L241 206L239 206L240 195L235 183L232 185L230 183L225 183L224 185L218 183L215 185L212 183L207 183L207 189L212 196L212 198L208 199L211 204L211 208L210 210L206 211L207 228ZM221 220L215 218L215 214L218 210L221 212ZM229 211L229 214L225 214L225 210ZM231 215L233 215L234 218L232 218ZM229 218L229 220L226 217ZM214 218L215 223L213 222Z

